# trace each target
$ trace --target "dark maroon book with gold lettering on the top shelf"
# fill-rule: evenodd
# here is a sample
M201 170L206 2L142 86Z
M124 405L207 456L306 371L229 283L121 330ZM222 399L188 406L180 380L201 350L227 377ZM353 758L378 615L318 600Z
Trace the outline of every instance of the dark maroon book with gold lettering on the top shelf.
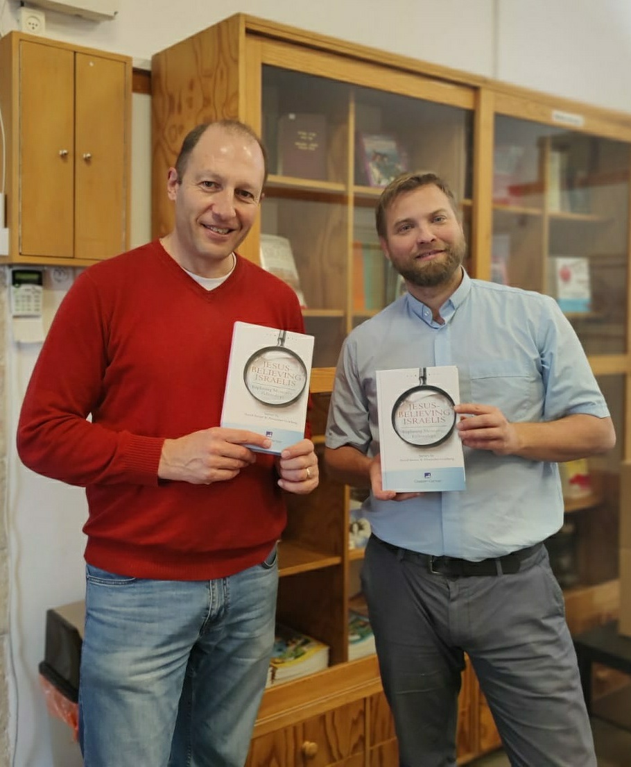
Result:
M302 179L326 179L326 116L289 112L278 121L278 173Z

